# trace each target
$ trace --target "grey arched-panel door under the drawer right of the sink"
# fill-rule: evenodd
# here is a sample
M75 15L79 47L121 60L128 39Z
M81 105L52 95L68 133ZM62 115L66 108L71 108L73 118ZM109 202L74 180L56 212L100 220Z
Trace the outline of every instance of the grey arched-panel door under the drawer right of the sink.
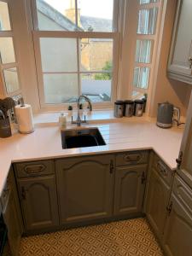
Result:
M143 211L147 165L118 167L115 173L114 214Z

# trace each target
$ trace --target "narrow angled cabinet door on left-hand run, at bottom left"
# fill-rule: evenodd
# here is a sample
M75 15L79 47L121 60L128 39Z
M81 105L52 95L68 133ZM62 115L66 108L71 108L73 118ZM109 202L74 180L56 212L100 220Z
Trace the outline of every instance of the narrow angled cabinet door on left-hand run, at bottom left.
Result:
M14 192L11 189L9 191L8 201L3 209L4 222L8 229L8 240L10 251L13 256L18 255L20 249L20 219L18 218L18 213L16 211L16 203Z

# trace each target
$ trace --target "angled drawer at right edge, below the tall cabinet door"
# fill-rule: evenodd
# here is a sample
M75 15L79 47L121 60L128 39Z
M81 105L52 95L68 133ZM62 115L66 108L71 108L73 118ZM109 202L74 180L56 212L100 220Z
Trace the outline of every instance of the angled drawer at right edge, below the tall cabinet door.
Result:
M184 183L178 175L176 175L174 179L172 190L177 199L184 207L187 207L192 214L192 189L190 189L188 184Z

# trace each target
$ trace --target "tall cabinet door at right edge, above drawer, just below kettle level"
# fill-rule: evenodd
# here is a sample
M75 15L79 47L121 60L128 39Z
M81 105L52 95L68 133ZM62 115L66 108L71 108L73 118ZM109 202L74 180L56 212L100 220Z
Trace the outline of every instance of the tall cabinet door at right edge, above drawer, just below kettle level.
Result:
M186 120L178 158L181 162L178 164L177 173L192 188L192 94Z

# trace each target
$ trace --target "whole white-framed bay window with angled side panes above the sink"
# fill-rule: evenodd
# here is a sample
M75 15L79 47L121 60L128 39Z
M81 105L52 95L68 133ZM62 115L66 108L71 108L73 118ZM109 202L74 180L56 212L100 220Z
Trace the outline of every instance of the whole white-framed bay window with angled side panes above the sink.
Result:
M0 0L0 95L22 92L35 112L150 98L162 3Z

